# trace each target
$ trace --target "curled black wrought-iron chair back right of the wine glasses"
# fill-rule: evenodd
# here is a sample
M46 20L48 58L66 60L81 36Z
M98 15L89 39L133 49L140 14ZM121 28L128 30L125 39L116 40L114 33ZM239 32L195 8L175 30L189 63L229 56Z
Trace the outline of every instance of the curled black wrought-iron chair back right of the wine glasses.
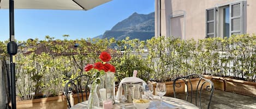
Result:
M191 79L193 79L193 78L198 78L199 79L196 86L192 85ZM175 98L176 98L175 87L181 87L182 86L181 82L177 82L177 80L183 80L184 81L184 84L186 85L185 88L187 88L186 101L188 101L188 96L190 96L190 102L191 103L192 103L192 98L193 98L193 89L194 89L193 87L197 87L196 89L194 89L196 91L195 105L197 105L197 99L198 99L197 97L198 97L198 93L199 93L199 107L200 108L201 108L201 91L202 91L202 89L206 89L206 91L210 91L211 94L210 94L210 98L209 98L209 103L207 105L207 108L210 108L212 94L213 94L213 91L214 91L214 84L212 83L212 81L210 81L209 79L205 79L202 75L199 75L199 74L190 74L190 75L187 75L187 76L178 77L173 82L174 97ZM189 90L190 90L190 93L189 93Z

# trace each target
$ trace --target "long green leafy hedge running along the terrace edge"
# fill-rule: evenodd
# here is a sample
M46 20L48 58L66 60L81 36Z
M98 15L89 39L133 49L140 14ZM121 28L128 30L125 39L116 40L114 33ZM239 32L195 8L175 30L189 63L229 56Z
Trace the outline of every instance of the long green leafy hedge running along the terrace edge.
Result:
M8 59L7 42L0 42L1 60ZM98 62L103 51L111 52L116 81L132 76L133 70L138 70L138 77L145 81L171 81L193 73L256 81L254 34L198 41L164 36L146 41L129 37L118 41L114 38L61 41L46 36L43 41L18 43L23 44L15 56L16 88L17 95L24 100L33 99L33 93L57 95L67 80L85 74L86 64ZM79 45L76 48L75 43Z

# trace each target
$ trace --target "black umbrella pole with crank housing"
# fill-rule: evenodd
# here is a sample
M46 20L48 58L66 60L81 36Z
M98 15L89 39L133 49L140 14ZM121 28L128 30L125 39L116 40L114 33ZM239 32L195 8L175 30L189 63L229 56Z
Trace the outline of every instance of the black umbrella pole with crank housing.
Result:
M9 0L9 19L10 42L7 44L7 51L10 54L11 108L16 109L15 63L13 62L13 55L17 54L17 43L14 42L14 0Z

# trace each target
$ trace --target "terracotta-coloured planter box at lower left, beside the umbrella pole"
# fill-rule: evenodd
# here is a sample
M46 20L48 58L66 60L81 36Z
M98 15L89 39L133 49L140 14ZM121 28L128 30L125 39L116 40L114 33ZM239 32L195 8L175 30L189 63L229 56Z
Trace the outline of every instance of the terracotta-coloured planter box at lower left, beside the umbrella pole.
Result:
M33 100L22 100L16 102L16 107L20 109L63 109L67 108L67 99L64 95Z

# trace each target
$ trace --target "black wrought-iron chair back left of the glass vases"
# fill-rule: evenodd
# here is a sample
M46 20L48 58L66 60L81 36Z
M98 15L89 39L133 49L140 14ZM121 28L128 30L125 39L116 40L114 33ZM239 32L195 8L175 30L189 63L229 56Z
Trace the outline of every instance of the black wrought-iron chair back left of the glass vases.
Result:
M64 91L67 97L68 101L68 108L72 106L70 103L70 94L77 94L78 95L78 102L84 101L84 96L86 97L85 100L87 100L87 92L89 91L88 84L90 84L90 78L91 76L88 75L79 75L73 80L69 80L67 84L64 87ZM81 95L81 99L80 99Z

